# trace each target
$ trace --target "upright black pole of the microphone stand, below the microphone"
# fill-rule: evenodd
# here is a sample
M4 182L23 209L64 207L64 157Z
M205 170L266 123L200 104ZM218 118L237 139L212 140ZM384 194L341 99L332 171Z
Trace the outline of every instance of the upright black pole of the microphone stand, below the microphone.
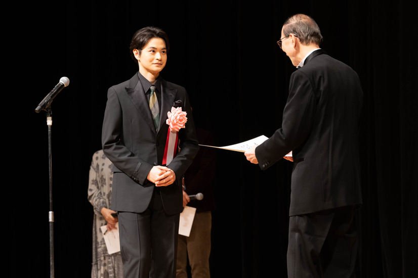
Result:
M50 231L50 278L55 276L54 268L54 211L52 210L52 111L51 106L47 108L47 125L48 125L48 164L49 164L49 201L50 211L48 213L49 218L49 231Z

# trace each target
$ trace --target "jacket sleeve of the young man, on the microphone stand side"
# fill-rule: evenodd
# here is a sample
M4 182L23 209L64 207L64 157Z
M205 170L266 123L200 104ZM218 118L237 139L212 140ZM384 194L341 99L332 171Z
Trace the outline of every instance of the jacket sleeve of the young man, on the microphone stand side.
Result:
M126 146L121 144L122 108L113 87L107 92L107 104L103 119L102 147L103 152L112 163L136 182L143 184L153 165L140 159Z

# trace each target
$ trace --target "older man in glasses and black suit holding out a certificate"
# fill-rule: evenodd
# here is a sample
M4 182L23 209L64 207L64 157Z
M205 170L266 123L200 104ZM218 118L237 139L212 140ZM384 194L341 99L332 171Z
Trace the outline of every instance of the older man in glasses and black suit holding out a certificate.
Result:
M363 92L357 74L319 48L316 22L295 15L277 42L292 73L282 126L245 152L262 170L292 151L288 277L353 277L361 204L358 130Z

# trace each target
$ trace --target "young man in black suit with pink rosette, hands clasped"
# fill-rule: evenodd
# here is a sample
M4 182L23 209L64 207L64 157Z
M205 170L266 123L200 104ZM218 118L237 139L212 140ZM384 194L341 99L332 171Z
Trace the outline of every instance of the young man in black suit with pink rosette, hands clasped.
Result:
M114 164L111 209L118 212L124 277L148 277L153 266L153 277L173 278L181 177L199 147L185 88L159 76L169 51L165 32L138 30L130 50L139 71L109 88L103 120L103 151ZM185 125L169 129L168 112Z

